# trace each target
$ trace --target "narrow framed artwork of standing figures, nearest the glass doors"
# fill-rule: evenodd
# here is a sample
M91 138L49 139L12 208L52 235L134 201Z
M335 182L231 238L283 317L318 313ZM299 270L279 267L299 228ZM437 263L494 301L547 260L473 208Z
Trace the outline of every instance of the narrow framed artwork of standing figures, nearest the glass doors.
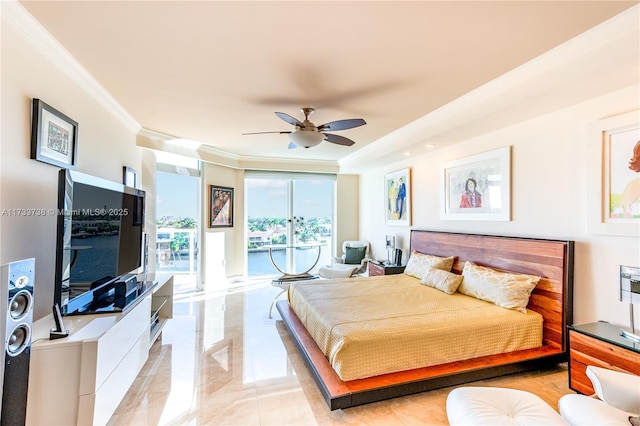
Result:
M385 223L411 225L411 169L385 175Z

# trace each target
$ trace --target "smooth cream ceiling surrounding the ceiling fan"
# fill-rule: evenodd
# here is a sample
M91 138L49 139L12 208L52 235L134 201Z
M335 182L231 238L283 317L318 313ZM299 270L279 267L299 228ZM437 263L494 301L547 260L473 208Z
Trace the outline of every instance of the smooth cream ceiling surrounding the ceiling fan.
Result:
M637 3L21 1L143 128L239 158L328 161ZM368 124L336 132L352 147L242 135L291 130L274 111L302 119L303 106L317 125Z

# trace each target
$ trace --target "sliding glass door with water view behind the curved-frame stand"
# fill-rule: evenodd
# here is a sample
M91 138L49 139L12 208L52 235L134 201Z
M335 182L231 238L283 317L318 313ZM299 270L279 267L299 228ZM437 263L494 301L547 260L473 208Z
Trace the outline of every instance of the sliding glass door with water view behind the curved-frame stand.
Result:
M247 172L245 189L249 277L331 263L335 176Z

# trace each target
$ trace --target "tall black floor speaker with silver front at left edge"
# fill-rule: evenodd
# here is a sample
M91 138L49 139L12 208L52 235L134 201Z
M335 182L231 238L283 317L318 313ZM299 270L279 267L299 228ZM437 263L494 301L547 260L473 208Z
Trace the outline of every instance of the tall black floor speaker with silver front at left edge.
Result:
M24 425L27 417L35 259L2 265L0 273L0 302L7 307L2 315L1 328L0 424Z

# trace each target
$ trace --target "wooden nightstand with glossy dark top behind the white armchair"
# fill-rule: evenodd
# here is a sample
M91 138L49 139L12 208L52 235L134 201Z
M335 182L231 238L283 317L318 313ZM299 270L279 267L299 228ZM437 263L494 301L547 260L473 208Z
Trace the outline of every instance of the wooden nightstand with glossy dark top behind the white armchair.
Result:
M594 393L586 375L588 365L640 375L640 343L620 335L620 326L608 322L570 325L569 387Z

